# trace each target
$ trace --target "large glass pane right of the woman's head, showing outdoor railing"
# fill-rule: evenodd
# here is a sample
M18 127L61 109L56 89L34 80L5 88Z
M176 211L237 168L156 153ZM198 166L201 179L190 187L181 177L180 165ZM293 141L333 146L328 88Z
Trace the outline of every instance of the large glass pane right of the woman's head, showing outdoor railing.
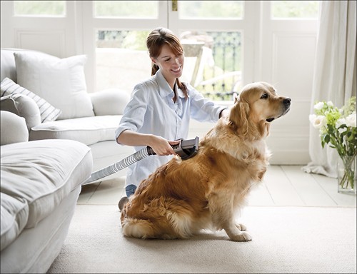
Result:
M207 98L217 101L231 100L233 93L241 88L241 32L183 31L180 38L183 46L202 43L196 71L193 71L194 66L191 66L191 70L190 67L184 68L186 71L190 70L188 73L191 78L188 78L188 81Z

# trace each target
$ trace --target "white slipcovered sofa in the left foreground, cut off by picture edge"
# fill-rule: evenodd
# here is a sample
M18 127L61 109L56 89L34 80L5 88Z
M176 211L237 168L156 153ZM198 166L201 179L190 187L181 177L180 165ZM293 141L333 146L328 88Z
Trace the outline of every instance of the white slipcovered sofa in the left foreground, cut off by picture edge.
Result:
M46 273L91 174L91 150L72 140L27 141L24 118L0 116L1 273Z

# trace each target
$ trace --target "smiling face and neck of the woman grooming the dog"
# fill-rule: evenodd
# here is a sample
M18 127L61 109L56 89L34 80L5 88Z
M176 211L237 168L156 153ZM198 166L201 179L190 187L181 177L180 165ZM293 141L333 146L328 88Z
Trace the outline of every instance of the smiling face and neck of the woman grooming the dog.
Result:
M161 48L161 53L152 61L159 66L163 76L171 87L174 86L176 78L181 77L183 70L184 56L183 54L175 55L168 45Z

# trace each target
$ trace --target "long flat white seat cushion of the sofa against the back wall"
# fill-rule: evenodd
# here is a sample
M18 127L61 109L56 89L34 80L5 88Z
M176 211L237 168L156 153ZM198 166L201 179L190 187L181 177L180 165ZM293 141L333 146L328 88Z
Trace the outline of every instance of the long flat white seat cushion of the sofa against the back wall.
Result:
M91 145L115 140L121 115L82 117L41 123L30 131L29 140L70 139Z

